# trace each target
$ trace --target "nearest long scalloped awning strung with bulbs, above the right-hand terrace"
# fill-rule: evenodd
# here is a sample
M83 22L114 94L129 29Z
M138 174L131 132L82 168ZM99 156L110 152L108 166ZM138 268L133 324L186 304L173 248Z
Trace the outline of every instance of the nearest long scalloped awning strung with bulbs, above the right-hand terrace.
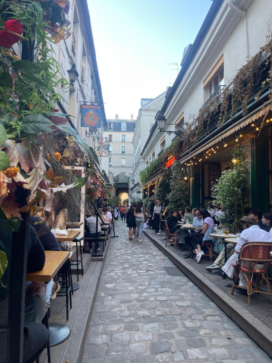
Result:
M253 111L250 115L245 116L241 120L237 121L234 125L231 125L226 130L222 131L219 135L216 135L213 139L211 139L207 144L198 148L197 150L191 152L189 155L185 156L181 159L181 164L185 163L187 160L193 158L195 155L200 154L201 152L209 149L211 146L217 144L219 141L227 138L231 134L243 129L243 127L249 125L250 123L256 121L261 116L265 115L269 110L272 110L272 105L269 103L266 106L261 106L259 109Z

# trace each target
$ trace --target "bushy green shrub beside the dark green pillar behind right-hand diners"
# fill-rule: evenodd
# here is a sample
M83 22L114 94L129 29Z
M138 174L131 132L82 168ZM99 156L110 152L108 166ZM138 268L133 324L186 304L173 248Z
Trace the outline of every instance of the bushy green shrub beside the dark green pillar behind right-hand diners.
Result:
M214 204L223 208L224 217L221 222L231 225L233 232L238 232L239 219L249 212L249 171L244 166L242 146L236 145L232 155L238 163L234 164L232 169L222 172L212 189L212 197Z

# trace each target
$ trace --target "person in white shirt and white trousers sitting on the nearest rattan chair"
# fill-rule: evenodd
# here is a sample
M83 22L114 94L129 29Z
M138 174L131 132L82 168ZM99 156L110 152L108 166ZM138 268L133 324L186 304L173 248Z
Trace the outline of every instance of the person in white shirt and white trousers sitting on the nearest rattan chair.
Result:
M260 229L256 224L256 220L249 216L244 216L239 220L244 230L241 232L237 245L235 246L234 253L227 260L221 270L217 270L217 274L221 275L222 278L233 277L234 264L237 261L238 255L241 252L241 248L247 242L272 242L272 236L270 233ZM242 261L242 266L248 268L248 261ZM260 267L261 268L261 267ZM219 273L218 273L219 272ZM240 282L239 286L247 287L247 279L243 273L239 274ZM241 294L247 294L246 291L240 291Z

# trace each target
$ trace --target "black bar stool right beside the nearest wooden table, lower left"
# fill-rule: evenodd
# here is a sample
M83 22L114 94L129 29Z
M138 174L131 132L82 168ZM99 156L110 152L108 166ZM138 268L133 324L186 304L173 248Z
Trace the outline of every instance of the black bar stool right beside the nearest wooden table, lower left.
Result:
M65 296L66 297L66 320L69 320L69 299L70 299L70 309L72 309L72 291L73 291L73 281L71 276L71 258L73 257L73 251L70 252L68 260L63 265L62 272L58 272L58 281L59 277L62 278L59 281L62 287L57 293L57 296ZM65 290L64 290L65 289ZM74 291L73 291L74 292Z

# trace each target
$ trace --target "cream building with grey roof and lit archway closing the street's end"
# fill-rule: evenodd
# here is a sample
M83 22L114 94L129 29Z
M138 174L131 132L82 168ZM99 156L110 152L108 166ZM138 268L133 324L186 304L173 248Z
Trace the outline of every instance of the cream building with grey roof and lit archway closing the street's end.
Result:
M115 187L115 195L123 203L128 203L128 186L132 176L133 145L132 139L135 130L133 115L131 119L107 119L107 127L103 131L104 137L110 141L109 147L109 179ZM106 158L104 158L106 159Z

